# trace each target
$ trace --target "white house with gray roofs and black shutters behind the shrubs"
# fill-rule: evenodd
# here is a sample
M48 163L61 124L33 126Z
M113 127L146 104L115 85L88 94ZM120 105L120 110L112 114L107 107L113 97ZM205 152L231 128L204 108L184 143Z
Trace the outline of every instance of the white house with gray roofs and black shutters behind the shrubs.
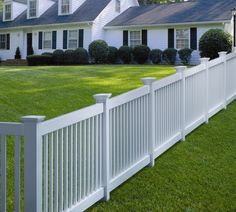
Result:
M235 0L196 0L139 6L137 0L4 0L0 18L0 57L22 58L55 49L88 48L96 39L110 46L148 45L194 49L202 34L220 28L233 34Z

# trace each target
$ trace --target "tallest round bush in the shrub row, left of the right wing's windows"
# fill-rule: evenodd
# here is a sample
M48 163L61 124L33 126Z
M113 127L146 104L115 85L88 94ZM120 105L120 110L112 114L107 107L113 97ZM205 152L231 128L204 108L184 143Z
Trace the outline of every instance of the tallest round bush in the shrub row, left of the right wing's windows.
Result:
M89 45L89 55L95 63L106 63L109 48L104 40L95 40Z

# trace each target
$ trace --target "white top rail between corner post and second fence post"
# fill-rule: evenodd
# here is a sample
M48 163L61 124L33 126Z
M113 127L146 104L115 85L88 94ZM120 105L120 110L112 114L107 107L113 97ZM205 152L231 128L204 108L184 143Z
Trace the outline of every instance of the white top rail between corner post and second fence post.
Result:
M56 130L63 129L78 122L92 118L103 113L103 105L95 104L72 113L59 116L54 119L40 123L40 134L46 135Z

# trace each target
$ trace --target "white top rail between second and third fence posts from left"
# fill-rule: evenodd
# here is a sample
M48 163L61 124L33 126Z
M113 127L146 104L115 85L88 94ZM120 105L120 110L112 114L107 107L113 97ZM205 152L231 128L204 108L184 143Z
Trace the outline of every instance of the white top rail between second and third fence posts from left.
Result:
M120 105L131 102L149 93L149 86L143 86L135 90L129 91L127 93L121 94L119 96L113 97L108 101L108 108L113 109Z

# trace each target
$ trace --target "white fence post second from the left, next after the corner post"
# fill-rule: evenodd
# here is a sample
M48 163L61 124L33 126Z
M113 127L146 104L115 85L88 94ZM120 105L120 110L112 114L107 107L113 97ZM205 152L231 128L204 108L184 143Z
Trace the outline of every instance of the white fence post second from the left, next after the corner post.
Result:
M111 94L96 94L93 96L96 99L96 103L103 104L103 129L102 129L102 138L103 138L103 152L102 152L102 165L103 165L103 186L104 186L104 199L108 201L110 199L110 164L109 164L109 109L107 106L107 101L111 97Z

